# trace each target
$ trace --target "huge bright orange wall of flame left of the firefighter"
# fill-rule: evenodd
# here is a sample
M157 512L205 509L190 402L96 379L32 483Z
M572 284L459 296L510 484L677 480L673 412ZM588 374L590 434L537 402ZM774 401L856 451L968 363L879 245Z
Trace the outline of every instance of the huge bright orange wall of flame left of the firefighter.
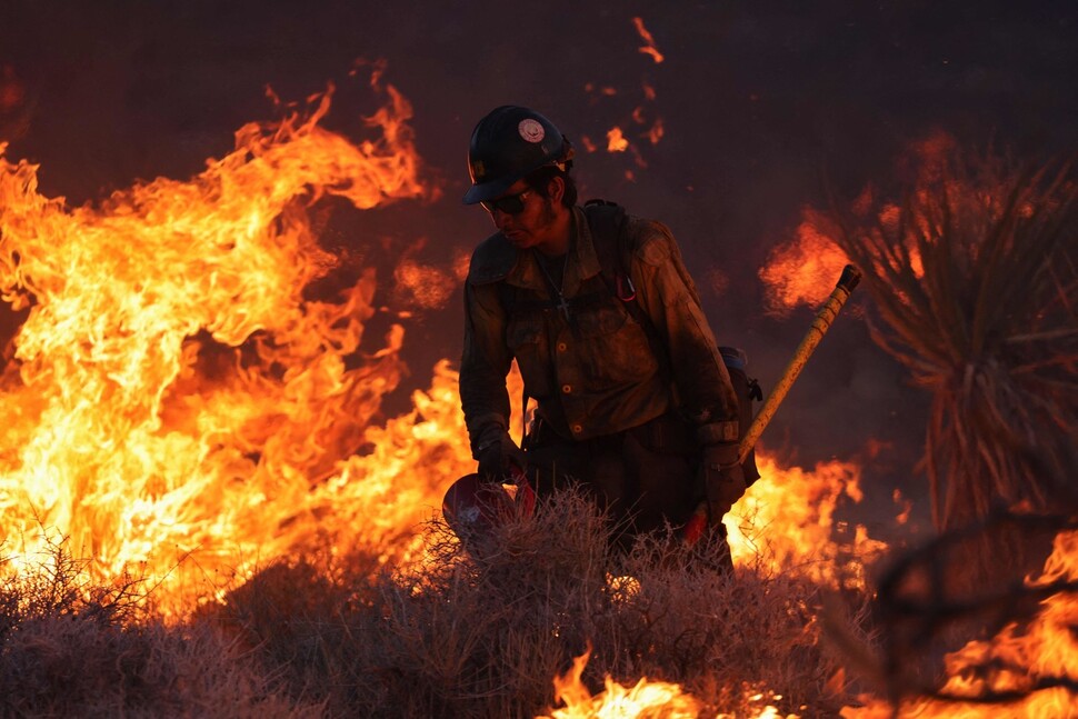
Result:
M0 157L0 291L28 310L0 390L9 568L59 532L98 578L133 569L159 598L198 595L302 547L397 541L445 479L402 489L401 469L470 466L445 365L413 415L370 426L403 371L399 327L358 352L373 272L339 302L303 296L336 262L307 216L318 198L367 209L430 191L411 108L386 92L371 139L319 127L330 88L306 117L244 126L190 181L100 207L43 197L36 166Z

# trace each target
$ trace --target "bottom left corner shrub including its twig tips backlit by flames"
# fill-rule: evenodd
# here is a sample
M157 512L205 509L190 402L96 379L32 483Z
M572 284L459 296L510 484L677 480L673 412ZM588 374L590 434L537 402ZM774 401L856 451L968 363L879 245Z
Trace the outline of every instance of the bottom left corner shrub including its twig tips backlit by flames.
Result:
M150 617L141 582L97 587L56 542L38 567L0 582L0 716L300 717L210 625Z

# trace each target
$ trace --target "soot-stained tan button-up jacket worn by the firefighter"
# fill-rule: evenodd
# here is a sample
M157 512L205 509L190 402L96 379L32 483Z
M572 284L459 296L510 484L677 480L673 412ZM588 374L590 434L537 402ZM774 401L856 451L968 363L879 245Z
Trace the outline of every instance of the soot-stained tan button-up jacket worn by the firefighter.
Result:
M585 210L573 208L572 216L561 288L568 320L532 250L496 233L472 254L460 365L472 451L491 425L509 425L506 376L513 359L538 415L567 439L620 432L675 407L695 425L736 420L737 397L670 231L629 217L621 261L668 353L672 387L647 332L600 274Z

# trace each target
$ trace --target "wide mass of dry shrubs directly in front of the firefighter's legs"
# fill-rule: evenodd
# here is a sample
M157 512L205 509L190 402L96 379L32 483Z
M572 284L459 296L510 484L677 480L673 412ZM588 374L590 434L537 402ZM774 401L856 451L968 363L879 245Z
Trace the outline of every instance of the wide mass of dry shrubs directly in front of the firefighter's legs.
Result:
M224 613L328 716L533 717L589 646L595 692L609 675L681 683L716 711L756 713L762 688L802 716L840 706L810 582L759 568L731 577L715 569L718 548L670 537L622 555L578 491L470 553L440 520L427 540L429 560L412 572L328 579L307 562L275 567L257 591L230 595Z

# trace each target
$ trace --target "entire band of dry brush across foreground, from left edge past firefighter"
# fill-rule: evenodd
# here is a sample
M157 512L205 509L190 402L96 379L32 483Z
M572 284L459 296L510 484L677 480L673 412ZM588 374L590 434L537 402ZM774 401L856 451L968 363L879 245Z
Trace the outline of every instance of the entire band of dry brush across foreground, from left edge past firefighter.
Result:
M535 717L588 647L592 692L607 675L676 682L701 716L755 716L758 690L783 712L835 716L854 690L809 582L731 577L711 568L715 548L668 538L625 556L577 492L500 532L476 559L436 520L410 573L363 557L278 562L169 626L146 602L88 593L61 551L70 571L0 592L0 715ZM841 603L852 616L866 602Z

